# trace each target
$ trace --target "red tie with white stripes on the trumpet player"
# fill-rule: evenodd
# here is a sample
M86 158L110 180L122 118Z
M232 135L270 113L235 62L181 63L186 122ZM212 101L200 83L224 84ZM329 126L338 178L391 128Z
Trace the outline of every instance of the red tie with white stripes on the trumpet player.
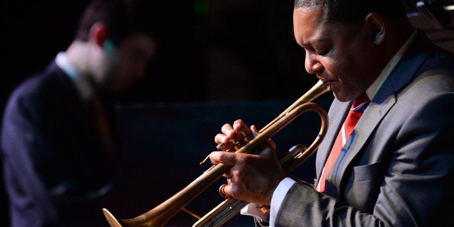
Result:
M315 188L318 192L325 192L326 176L328 175L334 162L336 161L337 156L339 155L339 153L341 153L342 148L347 142L347 139L350 137L350 134L352 134L356 123L358 123L361 115L363 115L364 109L366 108L367 104L369 104L369 102L370 100L369 97L367 97L366 93L362 94L353 102L349 114L345 119L344 124L342 125L341 131L339 131L339 134L337 135L336 141L332 146L331 153L329 153L328 159L326 160L325 166L323 167L321 178L318 181L317 187Z

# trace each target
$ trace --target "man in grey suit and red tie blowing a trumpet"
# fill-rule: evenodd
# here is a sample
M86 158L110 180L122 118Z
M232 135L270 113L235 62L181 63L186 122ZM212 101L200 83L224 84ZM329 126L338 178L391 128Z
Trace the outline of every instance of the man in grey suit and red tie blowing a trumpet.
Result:
M270 206L270 226L452 226L454 56L400 1L296 0L305 68L335 99L315 185L286 178L274 143L258 155L215 151L231 165L227 196ZM222 127L226 143L242 120Z

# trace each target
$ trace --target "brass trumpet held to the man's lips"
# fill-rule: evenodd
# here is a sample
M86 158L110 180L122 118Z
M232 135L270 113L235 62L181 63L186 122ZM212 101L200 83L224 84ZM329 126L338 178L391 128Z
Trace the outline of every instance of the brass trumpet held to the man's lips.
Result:
M315 111L321 119L320 131L316 139L306 149L303 145L296 145L292 148L285 157L280 159L282 169L285 174L290 174L293 169L303 163L310 155L312 155L323 140L328 127L328 116L326 110L319 104L311 102L323 93L329 91L327 83L318 81L309 91L296 100L286 110L280 113L273 121L262 128L257 137L248 141L242 147L236 150L236 153L251 153L261 144L285 128L293 120L299 117L303 112ZM203 192L208 186L216 182L224 173L228 172L232 166L226 164L216 164L211 166L201 176L186 186L183 190L159 204L155 208L129 219L117 219L106 208L102 211L107 221L112 227L119 226L162 226L178 211L185 210L192 214L185 206ZM208 212L203 217L198 217L199 220L193 226L220 226L243 207L248 204L246 201L237 200L234 198L226 198L223 202L217 205L213 210Z

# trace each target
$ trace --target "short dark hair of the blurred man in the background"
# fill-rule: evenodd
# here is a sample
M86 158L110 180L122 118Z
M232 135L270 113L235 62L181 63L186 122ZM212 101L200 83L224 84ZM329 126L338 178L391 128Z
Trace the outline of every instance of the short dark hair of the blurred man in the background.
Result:
M88 41L90 28L96 22L105 24L108 37L118 44L133 33L144 33L153 36L154 24L144 11L145 1L139 0L94 0L79 19L75 39Z

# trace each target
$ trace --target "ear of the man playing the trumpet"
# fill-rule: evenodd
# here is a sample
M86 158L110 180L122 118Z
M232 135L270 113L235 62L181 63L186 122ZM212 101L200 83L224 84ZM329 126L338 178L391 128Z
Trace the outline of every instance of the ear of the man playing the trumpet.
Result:
M386 35L386 27L383 17L377 13L370 13L366 16L363 26L366 34L376 45L380 45Z

